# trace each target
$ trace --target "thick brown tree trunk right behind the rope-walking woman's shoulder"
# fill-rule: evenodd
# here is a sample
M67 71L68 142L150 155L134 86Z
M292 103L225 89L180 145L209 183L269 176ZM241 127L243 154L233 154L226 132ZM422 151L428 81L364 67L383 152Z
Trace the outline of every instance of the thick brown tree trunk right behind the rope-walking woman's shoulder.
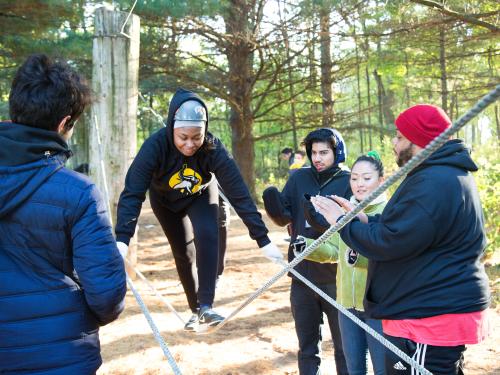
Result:
M243 180L255 198L255 150L252 134L252 47L249 14L251 5L245 0L231 0L224 17L226 32L234 42L227 45L226 56L229 65L228 91L234 103L230 103L229 126L234 159L238 164Z

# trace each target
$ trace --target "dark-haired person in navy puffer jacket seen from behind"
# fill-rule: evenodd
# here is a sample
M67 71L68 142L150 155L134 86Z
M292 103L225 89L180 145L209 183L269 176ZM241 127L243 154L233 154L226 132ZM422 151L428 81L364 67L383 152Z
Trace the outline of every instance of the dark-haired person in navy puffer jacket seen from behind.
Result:
M95 374L99 327L126 292L105 204L64 167L66 141L90 103L69 66L32 55L0 123L0 373Z

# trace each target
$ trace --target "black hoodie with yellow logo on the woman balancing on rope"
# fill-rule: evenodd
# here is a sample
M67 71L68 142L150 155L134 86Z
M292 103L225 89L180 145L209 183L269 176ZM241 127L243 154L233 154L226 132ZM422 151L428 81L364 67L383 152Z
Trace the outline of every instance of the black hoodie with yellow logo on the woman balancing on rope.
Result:
M173 119L177 109L187 100L205 103L193 92L179 89L174 94L166 127L149 137L130 166L125 179L125 189L118 202L116 223L117 241L129 243L134 235L142 202L149 190L163 205L173 212L186 209L207 186L216 183L222 190L259 247L271 241L268 230L257 211L240 171L222 142L206 132L206 143L211 149L201 147L193 156L184 156L173 143ZM208 110L207 110L208 113ZM208 128L208 121L207 126Z

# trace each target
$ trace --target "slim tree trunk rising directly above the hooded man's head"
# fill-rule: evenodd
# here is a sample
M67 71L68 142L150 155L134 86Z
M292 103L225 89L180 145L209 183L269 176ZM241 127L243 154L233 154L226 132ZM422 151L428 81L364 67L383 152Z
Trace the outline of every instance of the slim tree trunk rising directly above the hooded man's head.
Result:
M323 112L321 125L332 127L333 123L333 93L332 93L332 55L330 52L330 8L323 5L320 8L320 45L321 45L321 98Z

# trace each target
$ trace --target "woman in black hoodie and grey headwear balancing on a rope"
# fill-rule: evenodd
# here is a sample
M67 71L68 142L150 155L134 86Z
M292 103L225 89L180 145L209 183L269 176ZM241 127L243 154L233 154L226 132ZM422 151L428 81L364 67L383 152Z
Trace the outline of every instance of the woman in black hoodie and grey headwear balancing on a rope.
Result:
M144 142L128 170L115 229L118 246L126 252L149 190L193 312L185 326L189 331L224 319L212 309L218 265L217 181L264 255L282 258L267 236L236 163L207 128L205 103L193 92L177 90L166 127Z

